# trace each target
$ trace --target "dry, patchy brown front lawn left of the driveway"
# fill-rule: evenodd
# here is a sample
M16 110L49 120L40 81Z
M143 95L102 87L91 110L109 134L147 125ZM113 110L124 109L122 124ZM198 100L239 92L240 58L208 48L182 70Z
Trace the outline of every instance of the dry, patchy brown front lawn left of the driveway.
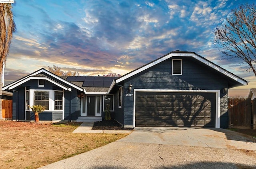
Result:
M80 124L0 121L0 168L38 168L128 135L72 133Z

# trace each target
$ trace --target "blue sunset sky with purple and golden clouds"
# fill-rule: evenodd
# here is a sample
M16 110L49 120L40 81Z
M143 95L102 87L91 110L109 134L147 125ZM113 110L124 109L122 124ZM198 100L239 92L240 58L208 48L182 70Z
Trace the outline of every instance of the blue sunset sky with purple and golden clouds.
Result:
M192 51L249 81L229 89L248 96L256 77L223 60L213 29L254 0L16 0L16 32L4 85L53 65L80 75L124 75L175 51Z

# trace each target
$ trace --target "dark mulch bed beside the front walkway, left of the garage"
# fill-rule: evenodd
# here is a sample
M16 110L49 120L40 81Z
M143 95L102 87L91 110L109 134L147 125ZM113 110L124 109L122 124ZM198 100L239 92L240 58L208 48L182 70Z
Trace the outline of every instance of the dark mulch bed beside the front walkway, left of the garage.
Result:
M116 120L102 120L94 122L92 130L133 130L133 128L124 128Z

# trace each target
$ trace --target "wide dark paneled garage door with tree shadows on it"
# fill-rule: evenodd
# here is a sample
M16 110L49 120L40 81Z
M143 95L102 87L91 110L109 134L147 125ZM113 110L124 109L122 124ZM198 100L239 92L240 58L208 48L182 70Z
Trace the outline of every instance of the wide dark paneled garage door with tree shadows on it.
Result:
M135 126L215 127L216 94L136 92Z

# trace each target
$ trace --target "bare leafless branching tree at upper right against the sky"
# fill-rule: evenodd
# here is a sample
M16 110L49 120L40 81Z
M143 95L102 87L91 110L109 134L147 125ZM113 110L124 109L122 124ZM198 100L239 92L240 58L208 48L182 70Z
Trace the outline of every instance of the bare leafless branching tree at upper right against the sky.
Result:
M239 58L240 64L252 69L256 76L256 6L241 5L232 10L222 26L214 29L214 47L225 59Z

